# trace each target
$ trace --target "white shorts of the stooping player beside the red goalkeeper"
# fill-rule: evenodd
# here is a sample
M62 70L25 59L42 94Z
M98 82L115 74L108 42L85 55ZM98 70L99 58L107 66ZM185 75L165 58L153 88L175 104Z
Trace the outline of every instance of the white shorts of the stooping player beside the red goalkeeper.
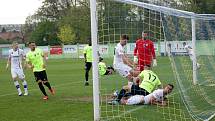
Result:
M114 69L122 76L127 77L130 74L132 68L124 63L118 63L114 65Z

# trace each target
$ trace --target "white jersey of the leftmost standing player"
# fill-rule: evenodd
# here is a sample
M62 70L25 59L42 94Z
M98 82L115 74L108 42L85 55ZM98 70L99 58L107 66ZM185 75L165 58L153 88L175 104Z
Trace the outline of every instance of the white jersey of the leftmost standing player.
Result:
M11 58L11 69L22 69L22 58L24 57L24 51L22 49L9 50L9 58Z

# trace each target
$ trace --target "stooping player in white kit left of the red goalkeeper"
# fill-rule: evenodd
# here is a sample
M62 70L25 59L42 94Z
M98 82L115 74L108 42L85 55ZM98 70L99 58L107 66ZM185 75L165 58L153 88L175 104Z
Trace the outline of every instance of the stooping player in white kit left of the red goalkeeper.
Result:
M134 70L134 63L125 54L125 46L129 37L128 35L121 35L120 42L114 49L114 69L123 77L126 77L129 82L128 85L132 85L133 77L138 76L139 71Z

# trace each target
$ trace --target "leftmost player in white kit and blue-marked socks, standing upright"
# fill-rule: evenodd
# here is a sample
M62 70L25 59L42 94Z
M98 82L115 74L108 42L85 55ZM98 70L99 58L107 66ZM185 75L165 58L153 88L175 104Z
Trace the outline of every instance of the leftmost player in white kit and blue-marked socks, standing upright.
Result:
M24 86L24 95L28 95L27 82L25 81L25 75L22 69L22 60L24 59L24 51L18 47L18 42L13 42L12 49L9 50L6 69L11 66L11 76L19 96L22 96L22 91L20 89L18 79L22 81L22 85Z

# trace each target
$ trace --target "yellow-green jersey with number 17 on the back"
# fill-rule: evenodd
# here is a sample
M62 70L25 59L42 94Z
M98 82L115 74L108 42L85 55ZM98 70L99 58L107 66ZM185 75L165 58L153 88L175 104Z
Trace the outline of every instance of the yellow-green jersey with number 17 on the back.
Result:
M151 70L143 70L139 74L140 79L142 80L140 87L145 89L147 92L152 93L161 82L158 76Z

